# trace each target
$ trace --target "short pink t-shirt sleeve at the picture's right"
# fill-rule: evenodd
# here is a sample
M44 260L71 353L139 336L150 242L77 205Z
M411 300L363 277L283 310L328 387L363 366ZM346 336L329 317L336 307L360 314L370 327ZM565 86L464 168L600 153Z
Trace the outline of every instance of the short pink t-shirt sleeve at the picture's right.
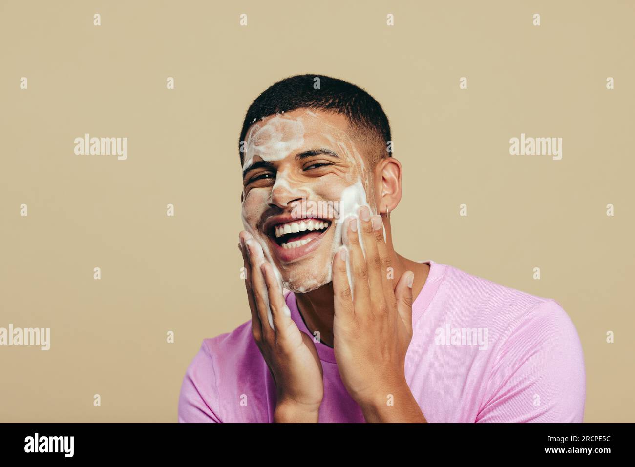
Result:
M525 313L493 360L476 422L582 423L584 354L554 300Z

